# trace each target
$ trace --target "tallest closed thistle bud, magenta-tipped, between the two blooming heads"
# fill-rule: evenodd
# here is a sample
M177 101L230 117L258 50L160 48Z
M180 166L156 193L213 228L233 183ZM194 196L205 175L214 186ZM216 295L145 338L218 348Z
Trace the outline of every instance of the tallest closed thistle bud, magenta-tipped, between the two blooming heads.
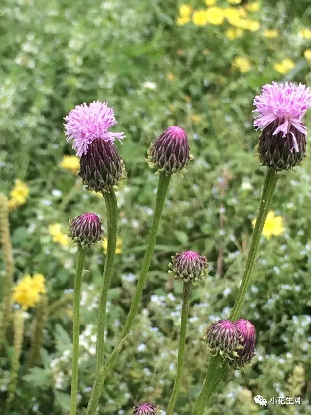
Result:
M177 173L186 167L189 145L185 131L177 126L167 128L148 149L148 165L168 174Z

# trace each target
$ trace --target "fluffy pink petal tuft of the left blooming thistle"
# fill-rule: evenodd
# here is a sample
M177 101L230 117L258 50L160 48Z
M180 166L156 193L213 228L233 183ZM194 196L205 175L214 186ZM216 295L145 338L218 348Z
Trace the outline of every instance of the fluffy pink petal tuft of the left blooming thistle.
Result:
M85 102L72 109L67 117L65 134L66 140L73 140L72 148L77 156L87 153L89 145L96 139L113 144L115 139L124 138L122 132L110 132L108 129L117 124L113 108L106 102Z

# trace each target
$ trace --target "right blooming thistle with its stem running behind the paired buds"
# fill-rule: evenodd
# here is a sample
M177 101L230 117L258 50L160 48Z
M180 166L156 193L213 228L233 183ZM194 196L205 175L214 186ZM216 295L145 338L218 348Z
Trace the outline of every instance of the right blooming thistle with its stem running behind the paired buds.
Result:
M254 99L256 109L254 126L262 130L259 137L259 158L261 164L268 167L263 185L259 213L242 277L241 286L230 314L234 321L241 313L245 295L250 284L252 270L264 223L271 206L279 172L292 169L304 157L307 129L303 116L311 107L311 94L305 85L294 83L277 84L262 87L262 94ZM242 327L240 322L237 328ZM252 330L251 330L252 331ZM250 346L250 350L252 347ZM248 355L247 355L248 356ZM240 360L248 360L240 356ZM225 375L227 365L222 364L220 354L213 356L207 370L207 376L201 394L195 404L193 415L202 415L209 397Z

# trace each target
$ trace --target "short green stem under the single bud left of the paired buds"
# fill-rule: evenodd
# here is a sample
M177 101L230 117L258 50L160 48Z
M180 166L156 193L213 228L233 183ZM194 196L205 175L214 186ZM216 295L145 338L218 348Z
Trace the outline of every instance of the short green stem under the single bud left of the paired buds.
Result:
M172 395L170 397L169 405L167 407L166 415L173 414L173 410L176 404L177 395L178 395L181 378L183 374L191 284L192 284L191 281L184 282L183 306L181 310L180 336L179 336L179 347L178 347L178 358L177 358L177 372L176 372L176 377L174 381Z

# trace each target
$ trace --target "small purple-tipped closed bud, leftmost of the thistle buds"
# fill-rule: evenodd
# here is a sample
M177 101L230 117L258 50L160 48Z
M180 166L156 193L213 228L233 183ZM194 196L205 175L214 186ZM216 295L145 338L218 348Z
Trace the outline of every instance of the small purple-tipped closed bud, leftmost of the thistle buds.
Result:
M69 236L82 245L95 244L102 239L102 224L95 213L84 213L70 220Z

